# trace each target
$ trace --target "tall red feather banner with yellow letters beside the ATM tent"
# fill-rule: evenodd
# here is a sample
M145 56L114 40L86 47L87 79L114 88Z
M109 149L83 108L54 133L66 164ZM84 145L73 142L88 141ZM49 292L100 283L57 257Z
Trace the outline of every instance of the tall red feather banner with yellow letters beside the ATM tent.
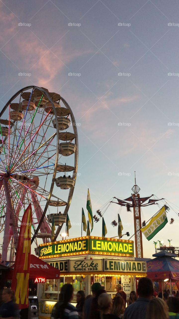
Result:
M11 285L11 289L15 291L16 303L19 305L20 309L28 308L31 226L32 208L31 204L29 204L21 221Z

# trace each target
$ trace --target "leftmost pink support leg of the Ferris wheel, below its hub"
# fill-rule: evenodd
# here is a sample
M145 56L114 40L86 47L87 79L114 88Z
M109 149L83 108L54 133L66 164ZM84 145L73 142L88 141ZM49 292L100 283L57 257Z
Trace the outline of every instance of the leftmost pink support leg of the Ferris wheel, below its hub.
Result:
M7 251L9 245L9 230L12 229L12 235L14 238L14 246L17 249L18 244L18 224L17 219L12 207L11 193L8 185L8 178L3 176L4 191L7 201L7 209L5 213L5 225L4 225L4 237L3 237L3 249L2 249L2 261L7 260Z

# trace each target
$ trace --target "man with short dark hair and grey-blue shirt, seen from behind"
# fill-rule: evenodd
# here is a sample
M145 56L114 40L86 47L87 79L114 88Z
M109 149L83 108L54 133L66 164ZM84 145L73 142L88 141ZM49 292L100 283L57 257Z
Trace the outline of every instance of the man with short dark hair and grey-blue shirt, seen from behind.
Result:
M144 319L149 301L154 294L153 282L150 278L139 279L137 293L139 298L129 305L124 312L124 319ZM158 299L158 298L157 298Z

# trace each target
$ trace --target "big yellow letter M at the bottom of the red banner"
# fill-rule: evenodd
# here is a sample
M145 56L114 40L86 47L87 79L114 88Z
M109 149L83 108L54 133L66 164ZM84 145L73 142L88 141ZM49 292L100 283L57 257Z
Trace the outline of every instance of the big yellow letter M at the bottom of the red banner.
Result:
M27 273L24 278L24 272L17 272L16 274L17 279L17 286L16 286L16 302L17 304L28 304L28 297L27 297L27 291L28 291L28 281L29 281L29 274ZM19 298L20 295L20 298Z

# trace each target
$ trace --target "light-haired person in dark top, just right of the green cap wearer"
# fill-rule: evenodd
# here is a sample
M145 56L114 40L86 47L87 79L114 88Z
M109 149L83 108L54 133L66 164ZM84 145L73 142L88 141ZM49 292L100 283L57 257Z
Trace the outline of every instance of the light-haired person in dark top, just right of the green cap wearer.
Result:
M118 319L116 315L111 314L112 299L108 293L101 293L98 297L99 313L97 319Z

